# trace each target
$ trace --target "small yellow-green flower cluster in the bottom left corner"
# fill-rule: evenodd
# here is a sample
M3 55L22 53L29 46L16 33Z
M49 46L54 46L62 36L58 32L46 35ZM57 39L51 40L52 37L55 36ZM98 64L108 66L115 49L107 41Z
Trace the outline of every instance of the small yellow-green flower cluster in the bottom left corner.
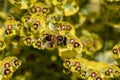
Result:
M21 61L16 57L6 57L0 61L0 80L9 80L19 68Z

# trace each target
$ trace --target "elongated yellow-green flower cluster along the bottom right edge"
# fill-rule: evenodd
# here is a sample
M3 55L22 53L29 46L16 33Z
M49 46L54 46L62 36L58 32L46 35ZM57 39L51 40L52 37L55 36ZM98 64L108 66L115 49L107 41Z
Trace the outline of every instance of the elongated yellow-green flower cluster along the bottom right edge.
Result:
M120 69L103 62L88 61L84 58L66 59L63 63L65 73L76 73L86 80L107 80L120 76Z

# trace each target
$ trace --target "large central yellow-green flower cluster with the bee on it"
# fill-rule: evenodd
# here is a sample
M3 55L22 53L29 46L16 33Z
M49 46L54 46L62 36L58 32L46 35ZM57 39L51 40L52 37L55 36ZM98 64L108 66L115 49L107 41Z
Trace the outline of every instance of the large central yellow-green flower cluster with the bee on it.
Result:
M20 4L20 1L15 3ZM18 6L18 4L15 5ZM63 21L63 15L55 12L50 13L50 8L41 2L32 2L28 9L25 9L25 13L20 20L16 20L16 17L13 16L9 15L2 27L3 33L1 37L5 37L0 43L1 50L8 46L4 42L7 41L8 37L10 39L15 38L16 43L20 41L27 46L33 46L42 50L60 48L75 50L78 54L82 51L89 54L89 52L92 53L101 49L97 35L83 31L82 37L77 37L74 26L67 21ZM84 32L87 32L89 35L84 35ZM90 39L86 39L87 37ZM64 50L62 53L64 53Z

